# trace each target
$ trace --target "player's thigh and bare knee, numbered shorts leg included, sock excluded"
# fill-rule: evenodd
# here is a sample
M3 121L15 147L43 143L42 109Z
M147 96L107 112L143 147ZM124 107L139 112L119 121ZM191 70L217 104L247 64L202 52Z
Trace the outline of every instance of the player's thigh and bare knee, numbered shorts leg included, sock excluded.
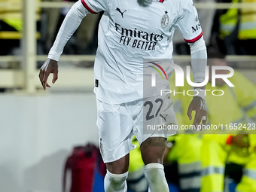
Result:
M163 163L166 139L177 133L171 126L176 124L172 99L169 95L154 96L146 99L142 108L138 120L141 126L134 132L140 144L142 159L145 164Z

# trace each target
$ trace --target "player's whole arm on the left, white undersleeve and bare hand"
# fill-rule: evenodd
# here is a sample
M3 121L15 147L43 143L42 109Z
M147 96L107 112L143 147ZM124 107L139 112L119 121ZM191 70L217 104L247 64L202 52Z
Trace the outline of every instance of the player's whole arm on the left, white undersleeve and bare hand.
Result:
M48 54L48 59L44 62L44 65L41 67L39 72L39 79L44 90L46 90L46 87L50 87L50 85L47 84L47 78L50 73L53 73L53 84L58 78L59 56L61 55L66 42L69 41L69 38L71 38L75 30L78 29L78 26L80 26L81 21L87 14L90 12L93 14L97 13L90 8L92 5L88 6L88 4L89 3L86 3L84 0L79 0L72 6L65 17L65 20L63 20L53 47L51 47ZM96 1L95 4L97 5ZM93 8L96 8L96 5L94 5Z

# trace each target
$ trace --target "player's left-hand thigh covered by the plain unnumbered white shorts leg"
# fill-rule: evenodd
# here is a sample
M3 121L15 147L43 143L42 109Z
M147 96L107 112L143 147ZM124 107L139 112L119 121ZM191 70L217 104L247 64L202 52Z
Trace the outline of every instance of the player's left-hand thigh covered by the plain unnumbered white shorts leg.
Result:
M132 120L122 105L97 100L99 149L104 163L126 162L126 155L135 148L132 144Z

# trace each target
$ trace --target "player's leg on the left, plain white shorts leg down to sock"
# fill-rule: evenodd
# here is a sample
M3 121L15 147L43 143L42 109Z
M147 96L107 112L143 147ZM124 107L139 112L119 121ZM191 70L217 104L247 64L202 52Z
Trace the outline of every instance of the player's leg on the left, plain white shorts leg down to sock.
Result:
M132 144L130 114L123 105L111 105L97 100L99 149L107 166L104 179L106 192L125 192Z

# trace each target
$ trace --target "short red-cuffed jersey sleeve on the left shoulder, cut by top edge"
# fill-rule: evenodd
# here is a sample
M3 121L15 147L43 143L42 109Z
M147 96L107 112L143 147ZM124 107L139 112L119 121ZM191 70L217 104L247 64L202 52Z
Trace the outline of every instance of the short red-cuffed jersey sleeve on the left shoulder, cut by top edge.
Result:
M98 14L100 11L106 11L108 0L79 0L85 8L92 14Z

